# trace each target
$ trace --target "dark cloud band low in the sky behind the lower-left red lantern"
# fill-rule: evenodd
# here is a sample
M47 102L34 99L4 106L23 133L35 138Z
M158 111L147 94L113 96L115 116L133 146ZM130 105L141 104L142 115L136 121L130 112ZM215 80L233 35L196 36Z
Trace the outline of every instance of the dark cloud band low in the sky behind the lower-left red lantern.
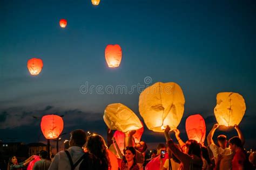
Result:
M102 114L84 112L79 109L63 110L47 105L42 109L12 107L0 110L0 129L14 129L20 126L38 125L44 115L63 115L65 126L78 126L87 122L103 120Z

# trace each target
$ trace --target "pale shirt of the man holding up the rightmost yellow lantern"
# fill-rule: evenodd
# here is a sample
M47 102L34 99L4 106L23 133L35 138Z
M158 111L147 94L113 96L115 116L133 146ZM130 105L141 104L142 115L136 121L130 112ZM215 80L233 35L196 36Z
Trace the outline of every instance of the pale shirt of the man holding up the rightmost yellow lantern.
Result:
M232 169L232 160L234 157L234 153L230 148L223 149L222 147L219 147L212 143L210 145L210 149L212 150L213 157L215 160L215 163L217 161L218 155L223 155L223 159L220 160L220 170L231 170Z

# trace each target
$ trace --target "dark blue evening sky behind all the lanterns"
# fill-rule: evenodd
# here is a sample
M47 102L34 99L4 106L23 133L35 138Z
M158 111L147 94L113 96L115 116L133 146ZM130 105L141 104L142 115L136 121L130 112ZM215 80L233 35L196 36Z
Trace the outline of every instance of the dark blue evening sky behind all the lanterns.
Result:
M68 20L65 29L59 26L62 18ZM208 132L216 122L216 95L241 94L245 147L256 148L255 1L102 0L93 6L90 0L1 0L0 20L1 140L45 141L39 124L46 114L64 115L63 132L84 129L106 137L106 105L123 103L142 117L138 90L107 94L105 87L124 85L130 91L138 83L160 81L183 89L178 128L184 140L187 116L201 114ZM118 68L107 67L108 44L122 47ZM30 58L44 62L38 76L26 68ZM103 86L104 94L81 93L86 83ZM143 140L164 142L164 136L145 127Z

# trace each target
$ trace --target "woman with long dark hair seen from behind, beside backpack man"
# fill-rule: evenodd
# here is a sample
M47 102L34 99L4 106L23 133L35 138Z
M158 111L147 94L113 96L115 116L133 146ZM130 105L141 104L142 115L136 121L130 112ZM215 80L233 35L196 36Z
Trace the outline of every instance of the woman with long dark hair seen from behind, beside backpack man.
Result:
M79 167L82 169L107 170L111 169L107 146L102 136L93 134L87 139L86 149L88 158Z

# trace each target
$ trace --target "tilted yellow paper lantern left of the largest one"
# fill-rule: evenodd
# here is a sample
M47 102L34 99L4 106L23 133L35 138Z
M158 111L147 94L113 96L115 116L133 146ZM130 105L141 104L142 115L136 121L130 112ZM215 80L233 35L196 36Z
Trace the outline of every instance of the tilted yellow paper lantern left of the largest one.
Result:
M142 123L137 115L121 103L107 105L103 119L111 130L127 132L142 128Z

